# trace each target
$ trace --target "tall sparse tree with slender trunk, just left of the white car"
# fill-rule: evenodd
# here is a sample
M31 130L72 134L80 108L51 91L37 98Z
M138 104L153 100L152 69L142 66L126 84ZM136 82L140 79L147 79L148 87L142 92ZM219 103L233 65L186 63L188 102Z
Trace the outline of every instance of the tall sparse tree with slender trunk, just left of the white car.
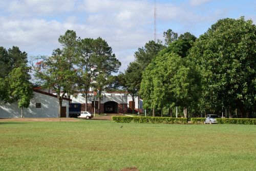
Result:
M51 87L57 93L59 99L59 112L61 114L62 100L76 93L78 82L77 69L78 62L78 38L75 31L67 30L64 35L60 35L59 42L62 49L53 51L51 57L42 58L44 69L36 73L40 79L40 84L44 87Z

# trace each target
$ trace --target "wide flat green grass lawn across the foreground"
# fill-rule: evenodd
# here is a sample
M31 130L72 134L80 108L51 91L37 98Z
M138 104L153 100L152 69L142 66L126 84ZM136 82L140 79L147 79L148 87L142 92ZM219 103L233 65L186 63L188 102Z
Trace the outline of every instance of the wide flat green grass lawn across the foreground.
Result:
M0 170L256 170L256 125L0 122L0 137Z

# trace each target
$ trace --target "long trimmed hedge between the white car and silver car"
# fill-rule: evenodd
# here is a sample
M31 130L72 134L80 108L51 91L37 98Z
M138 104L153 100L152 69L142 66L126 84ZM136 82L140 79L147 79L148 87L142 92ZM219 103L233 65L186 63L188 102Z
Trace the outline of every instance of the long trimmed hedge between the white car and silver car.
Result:
M137 122L137 123L187 123L187 118L170 118L170 117L130 117L130 116L112 116L112 120L124 122Z

